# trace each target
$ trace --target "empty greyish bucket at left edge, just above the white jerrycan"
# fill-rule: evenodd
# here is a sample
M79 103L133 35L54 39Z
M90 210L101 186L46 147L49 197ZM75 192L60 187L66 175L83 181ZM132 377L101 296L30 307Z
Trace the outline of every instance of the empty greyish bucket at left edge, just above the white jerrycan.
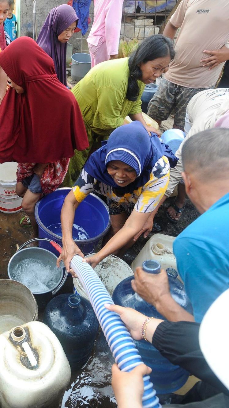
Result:
M0 279L0 334L37 317L37 302L31 291L20 282Z

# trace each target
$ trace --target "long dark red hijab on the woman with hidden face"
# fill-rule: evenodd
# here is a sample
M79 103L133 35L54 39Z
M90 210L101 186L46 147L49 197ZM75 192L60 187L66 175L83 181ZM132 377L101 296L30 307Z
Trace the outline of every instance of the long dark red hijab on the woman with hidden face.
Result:
M34 40L20 37L0 53L15 84L0 105L0 163L53 163L88 147L74 95L59 82L53 60Z

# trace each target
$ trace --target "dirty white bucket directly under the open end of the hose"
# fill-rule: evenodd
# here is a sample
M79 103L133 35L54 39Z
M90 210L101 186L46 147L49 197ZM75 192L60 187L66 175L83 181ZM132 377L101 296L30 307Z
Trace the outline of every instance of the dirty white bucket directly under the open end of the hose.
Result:
M92 253L86 255L85 258L95 255ZM95 267L95 272L103 282L103 285L106 287L108 293L112 295L116 286L125 278L133 275L133 272L128 264L122 259L118 258L115 255L109 255L104 258L99 264ZM88 296L81 285L81 282L78 278L73 278L74 289L73 293L88 299Z

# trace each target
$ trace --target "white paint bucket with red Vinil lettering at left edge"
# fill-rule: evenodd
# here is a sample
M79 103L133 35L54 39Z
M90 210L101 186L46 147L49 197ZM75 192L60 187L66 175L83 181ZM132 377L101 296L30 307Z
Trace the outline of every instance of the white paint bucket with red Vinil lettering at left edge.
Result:
M22 198L15 192L17 167L18 163L15 162L0 164L0 211L2 213L17 213L22 209Z

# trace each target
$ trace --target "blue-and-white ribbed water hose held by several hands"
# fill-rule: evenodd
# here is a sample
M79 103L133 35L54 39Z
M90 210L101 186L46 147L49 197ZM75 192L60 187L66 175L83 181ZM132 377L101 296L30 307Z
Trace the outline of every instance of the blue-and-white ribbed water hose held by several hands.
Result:
M131 371L134 367L142 364L141 356L125 324L117 313L111 312L104 307L104 304L114 304L114 302L97 273L89 264L82 262L79 255L73 257L70 267L76 273L90 299L92 308L120 370ZM150 382L150 376L143 377L143 381L143 408L161 408L159 399L156 397L156 391L153 389L152 382Z

